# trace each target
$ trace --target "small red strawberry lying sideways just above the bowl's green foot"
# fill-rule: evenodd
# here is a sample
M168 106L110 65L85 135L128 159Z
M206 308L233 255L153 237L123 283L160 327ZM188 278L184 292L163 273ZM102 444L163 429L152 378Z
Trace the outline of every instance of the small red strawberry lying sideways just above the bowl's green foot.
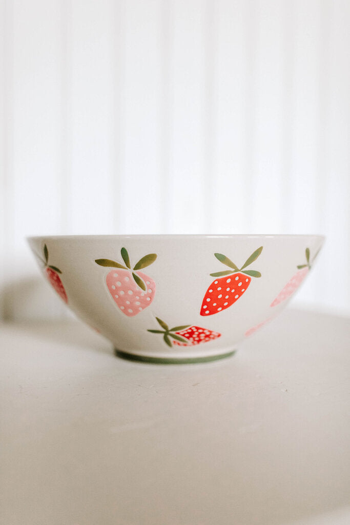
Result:
M168 346L173 346L173 344L176 346L194 346L196 344L214 341L214 339L221 337L219 332L196 327L192 324L169 328L162 319L156 317L156 320L163 330L147 330L147 332L162 333L163 339Z

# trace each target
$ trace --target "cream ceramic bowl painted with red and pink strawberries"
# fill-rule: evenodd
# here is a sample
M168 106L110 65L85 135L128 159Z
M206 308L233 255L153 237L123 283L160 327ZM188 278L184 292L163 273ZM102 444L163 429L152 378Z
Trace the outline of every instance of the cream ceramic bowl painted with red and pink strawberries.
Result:
M231 355L286 306L319 235L30 237L43 275L124 357L198 362Z

